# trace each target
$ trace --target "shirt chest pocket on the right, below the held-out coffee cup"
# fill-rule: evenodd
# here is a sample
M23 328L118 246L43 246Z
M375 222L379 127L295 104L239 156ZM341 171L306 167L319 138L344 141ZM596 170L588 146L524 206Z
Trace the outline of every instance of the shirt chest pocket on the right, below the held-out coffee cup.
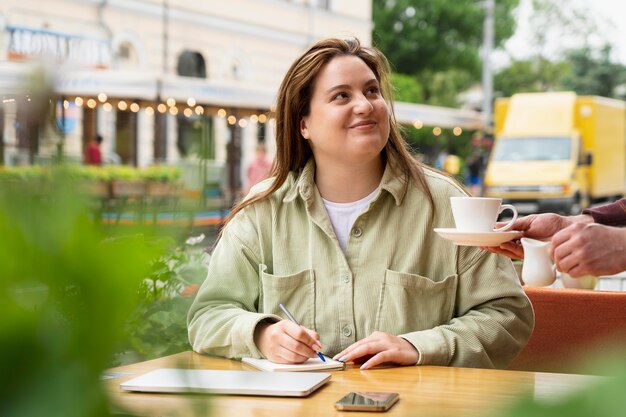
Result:
M458 275L442 281L387 270L383 280L376 330L394 335L432 329L454 314Z

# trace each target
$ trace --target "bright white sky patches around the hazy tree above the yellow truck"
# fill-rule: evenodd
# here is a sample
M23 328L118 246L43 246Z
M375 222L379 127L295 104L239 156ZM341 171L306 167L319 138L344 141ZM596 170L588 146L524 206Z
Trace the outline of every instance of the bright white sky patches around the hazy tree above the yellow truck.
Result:
M587 9L589 15L596 20L600 35L613 46L614 60L626 65L626 1L624 0L568 0L563 4ZM528 57L532 51L529 46L530 15L532 12L531 1L521 0L518 10L517 31L505 44L506 53L498 51L493 60L496 67L507 63L507 54L516 59ZM587 15L587 13L585 13ZM567 39L552 39L551 48L557 49L562 46L575 47L576 44L568 45ZM550 49L550 48L548 48Z

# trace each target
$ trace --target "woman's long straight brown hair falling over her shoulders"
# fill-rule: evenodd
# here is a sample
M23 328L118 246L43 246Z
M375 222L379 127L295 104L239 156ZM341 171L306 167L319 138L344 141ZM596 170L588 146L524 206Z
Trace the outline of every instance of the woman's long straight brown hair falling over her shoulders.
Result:
M386 157L391 166L397 167L405 181L413 181L425 193L431 207L434 205L422 169L425 165L418 162L408 149L400 134L393 111L392 88L389 82L389 62L376 48L361 46L358 39L324 39L312 45L291 65L280 89L276 103L276 158L270 172L274 177L271 186L249 199L239 202L226 219L232 220L237 213L250 204L266 198L278 190L289 172L300 171L313 152L309 141L300 133L300 120L309 114L313 95L313 83L322 67L338 56L352 55L360 58L374 72L381 86L381 94L389 107L389 140L385 145ZM430 169L430 168L428 168Z

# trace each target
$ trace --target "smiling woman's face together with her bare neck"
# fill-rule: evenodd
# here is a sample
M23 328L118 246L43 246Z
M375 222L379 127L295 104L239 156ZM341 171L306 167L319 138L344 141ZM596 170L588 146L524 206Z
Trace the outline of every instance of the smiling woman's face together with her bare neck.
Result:
M317 165L323 198L348 203L371 194L384 166L381 151L389 137L389 110L378 80L360 58L341 56L326 64L315 83L309 114L300 120ZM367 179L348 192L337 182L355 172Z

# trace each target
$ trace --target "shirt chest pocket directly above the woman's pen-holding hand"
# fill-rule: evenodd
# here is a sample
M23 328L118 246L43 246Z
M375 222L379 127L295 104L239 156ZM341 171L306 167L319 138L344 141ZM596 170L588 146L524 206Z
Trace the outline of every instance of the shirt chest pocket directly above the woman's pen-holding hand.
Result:
M298 322L315 329L315 276L312 269L305 269L292 275L272 275L265 272L267 267L260 265L261 308L263 313L285 317L278 307L282 303Z

